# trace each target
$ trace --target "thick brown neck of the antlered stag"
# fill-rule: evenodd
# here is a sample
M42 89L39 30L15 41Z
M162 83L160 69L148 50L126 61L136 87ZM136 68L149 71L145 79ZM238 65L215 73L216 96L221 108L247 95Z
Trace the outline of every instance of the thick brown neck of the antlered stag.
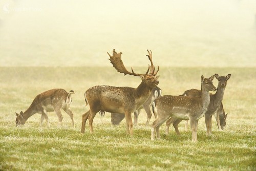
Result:
M140 101L144 103L150 96L152 89L153 88L148 87L147 84L142 81L139 86L134 90L134 98L136 99L136 101L138 100L139 103Z

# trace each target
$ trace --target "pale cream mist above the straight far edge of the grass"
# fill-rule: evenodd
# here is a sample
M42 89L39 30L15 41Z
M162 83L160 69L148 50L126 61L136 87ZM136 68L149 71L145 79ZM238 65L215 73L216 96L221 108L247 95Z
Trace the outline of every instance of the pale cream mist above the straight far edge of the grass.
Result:
M256 1L0 1L0 66L256 67Z

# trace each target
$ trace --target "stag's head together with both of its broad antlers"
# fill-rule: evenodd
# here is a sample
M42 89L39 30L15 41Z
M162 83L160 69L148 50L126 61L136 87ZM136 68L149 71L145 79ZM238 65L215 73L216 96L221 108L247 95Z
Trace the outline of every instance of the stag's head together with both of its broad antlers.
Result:
M152 60L152 51L148 51L148 55L146 55L148 57L148 59L151 62L151 66L148 65L148 69L146 71L145 74L138 74L135 73L133 71L132 68L132 72L127 71L127 69L124 67L122 59L121 59L121 55L122 52L116 53L115 49L113 49L113 55L110 56L110 62L112 63L113 67L120 73L123 73L124 75L128 74L128 75L133 75L133 76L140 76L142 82L144 82L145 84L147 84L148 87L150 88L154 88L158 85L159 81L158 78L159 76L156 76L158 71L159 71L159 66L157 71L155 71L155 67L153 65L153 60ZM150 71L150 73L148 73Z

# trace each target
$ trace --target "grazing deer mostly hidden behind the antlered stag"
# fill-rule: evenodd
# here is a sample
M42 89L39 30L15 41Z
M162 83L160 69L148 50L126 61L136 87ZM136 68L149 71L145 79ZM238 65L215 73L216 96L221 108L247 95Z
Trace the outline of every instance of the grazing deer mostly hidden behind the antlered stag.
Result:
M150 122L152 113L151 113L151 107L153 101L161 96L162 90L159 87L155 87L152 89L150 97L140 106L140 108L134 112L134 125L136 126L138 123L138 116L140 114L141 109L144 109L147 114L147 120L146 120L146 126L148 125L148 122ZM124 114L118 114L118 113L111 113L111 122L113 125L119 125L119 123L123 120Z

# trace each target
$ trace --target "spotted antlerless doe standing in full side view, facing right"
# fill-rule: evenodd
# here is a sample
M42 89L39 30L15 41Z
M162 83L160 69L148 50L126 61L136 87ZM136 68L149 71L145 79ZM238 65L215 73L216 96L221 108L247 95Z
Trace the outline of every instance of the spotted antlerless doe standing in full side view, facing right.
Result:
M190 120L192 140L197 141L198 120L203 117L210 102L209 91L216 91L212 84L214 75L209 79L201 76L201 96L160 96L153 102L153 109L157 119L152 124L151 140L160 138L159 127L169 118Z

